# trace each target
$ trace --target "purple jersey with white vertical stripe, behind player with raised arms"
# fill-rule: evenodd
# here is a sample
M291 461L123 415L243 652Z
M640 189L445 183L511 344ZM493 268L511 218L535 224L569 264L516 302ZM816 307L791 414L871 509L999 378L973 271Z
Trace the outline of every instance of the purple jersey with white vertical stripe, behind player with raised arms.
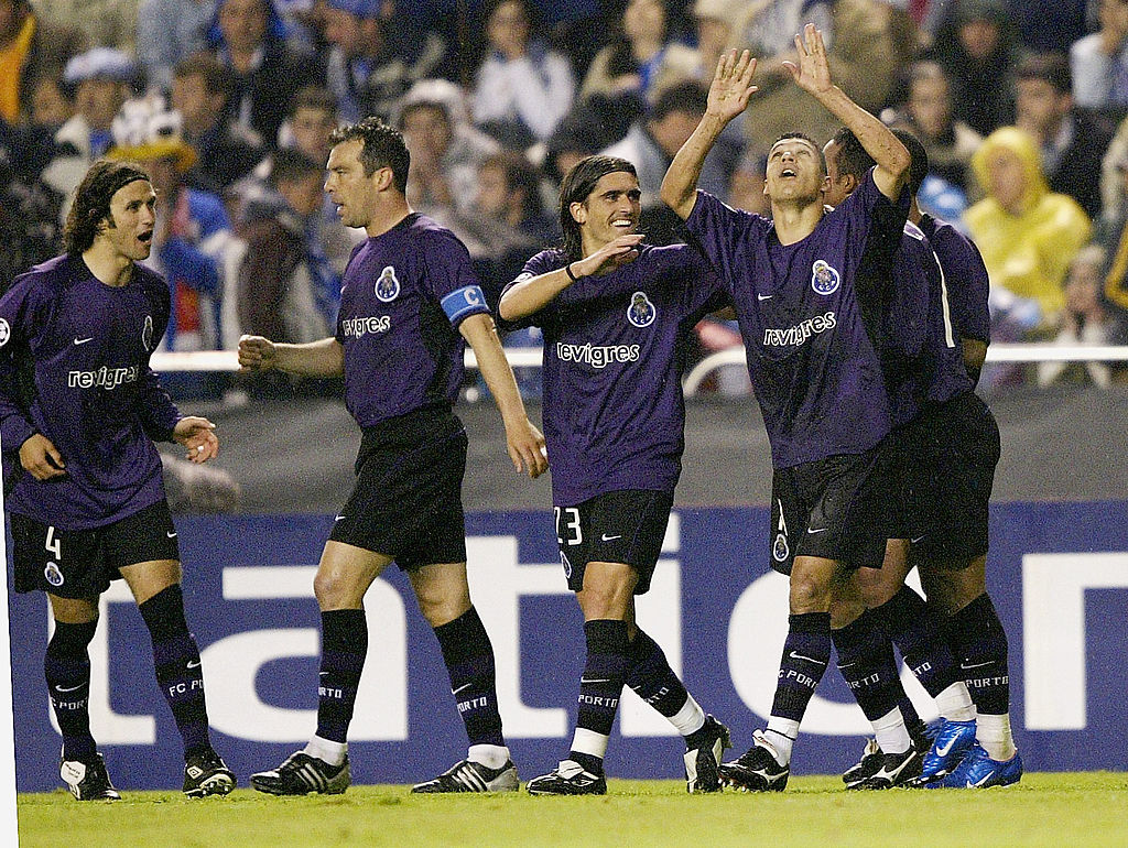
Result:
M975 387L952 329L943 268L913 223L905 224L893 255L892 281L881 360L897 426L915 418L924 403L942 404Z

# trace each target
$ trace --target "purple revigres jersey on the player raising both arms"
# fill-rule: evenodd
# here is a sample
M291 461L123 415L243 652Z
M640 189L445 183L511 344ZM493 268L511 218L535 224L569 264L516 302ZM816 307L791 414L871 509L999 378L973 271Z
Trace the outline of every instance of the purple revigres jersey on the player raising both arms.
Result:
M686 224L737 309L776 468L862 453L892 426L874 341L884 304L867 290L881 275L858 271L890 260L907 204L871 170L810 236L783 245L772 221L697 193Z

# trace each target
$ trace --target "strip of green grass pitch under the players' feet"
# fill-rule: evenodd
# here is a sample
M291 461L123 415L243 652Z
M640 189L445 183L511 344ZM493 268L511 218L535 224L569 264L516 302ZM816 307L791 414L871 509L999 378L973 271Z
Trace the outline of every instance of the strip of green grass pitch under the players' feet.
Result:
M1128 772L1028 774L1005 789L845 792L793 778L783 794L687 795L673 780L608 781L603 797L344 795L273 798L237 789L190 801L126 792L79 804L18 796L21 848L176 846L1128 846Z

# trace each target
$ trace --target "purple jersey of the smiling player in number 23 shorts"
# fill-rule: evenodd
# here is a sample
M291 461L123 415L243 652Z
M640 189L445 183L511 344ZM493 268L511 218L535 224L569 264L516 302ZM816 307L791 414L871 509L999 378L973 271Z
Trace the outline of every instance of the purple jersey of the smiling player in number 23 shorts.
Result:
M544 250L517 281L564 265L561 251ZM628 488L673 492L685 447L685 339L721 298L696 250L647 245L634 262L581 277L519 323L544 330L543 421L554 503Z

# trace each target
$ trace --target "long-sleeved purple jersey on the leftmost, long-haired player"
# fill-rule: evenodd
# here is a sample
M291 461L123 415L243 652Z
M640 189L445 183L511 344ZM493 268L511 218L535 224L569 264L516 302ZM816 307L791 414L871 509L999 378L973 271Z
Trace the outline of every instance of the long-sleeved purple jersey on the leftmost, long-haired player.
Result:
M6 478L19 475L9 510L87 530L165 496L152 440L169 440L179 413L149 356L168 313L168 284L140 265L123 286L71 256L16 277L0 299L0 438ZM65 476L21 471L17 451L36 432L62 454Z

